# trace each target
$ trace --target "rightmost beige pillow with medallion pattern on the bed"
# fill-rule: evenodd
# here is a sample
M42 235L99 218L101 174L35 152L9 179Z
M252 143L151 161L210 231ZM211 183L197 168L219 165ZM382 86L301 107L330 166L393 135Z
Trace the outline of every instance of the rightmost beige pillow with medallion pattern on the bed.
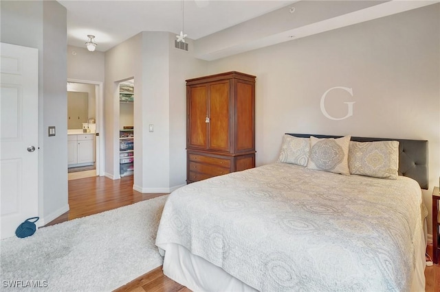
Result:
M350 142L351 174L397 180L399 141Z

